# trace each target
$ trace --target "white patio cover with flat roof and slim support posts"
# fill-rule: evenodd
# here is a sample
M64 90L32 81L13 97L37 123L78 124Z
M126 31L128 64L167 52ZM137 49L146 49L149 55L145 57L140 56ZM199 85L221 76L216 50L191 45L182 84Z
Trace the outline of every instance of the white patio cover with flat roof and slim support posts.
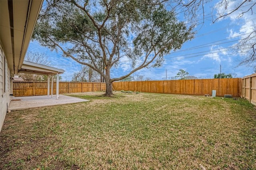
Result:
M20 73L30 73L30 74L39 74L39 75L48 75L47 81L47 96L50 95L50 75L57 75L56 81L56 99L59 96L59 74L64 73L64 70L57 69L55 67L50 67L47 65L42 65L38 63L32 63L30 61L24 61L21 69L19 69ZM52 79L52 91L53 93L53 79ZM52 95L51 93L51 95Z

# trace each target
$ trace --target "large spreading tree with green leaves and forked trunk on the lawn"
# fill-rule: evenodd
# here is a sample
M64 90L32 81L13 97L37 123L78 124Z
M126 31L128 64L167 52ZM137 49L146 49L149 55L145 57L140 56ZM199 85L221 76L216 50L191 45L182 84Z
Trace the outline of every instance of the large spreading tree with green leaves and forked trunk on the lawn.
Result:
M160 0L46 0L33 38L100 73L112 95L112 82L159 67L164 55L193 38L192 29ZM122 58L132 71L110 77Z

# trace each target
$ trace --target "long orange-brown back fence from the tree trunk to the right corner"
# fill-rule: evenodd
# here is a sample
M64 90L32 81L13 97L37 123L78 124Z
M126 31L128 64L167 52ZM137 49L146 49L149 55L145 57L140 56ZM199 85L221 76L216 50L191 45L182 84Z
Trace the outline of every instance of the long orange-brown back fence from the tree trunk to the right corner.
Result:
M114 82L112 86L115 90L118 91L125 90L149 93L211 95L212 90L216 90L216 96L232 95L233 97L240 97L241 95L241 78L129 82L122 81Z

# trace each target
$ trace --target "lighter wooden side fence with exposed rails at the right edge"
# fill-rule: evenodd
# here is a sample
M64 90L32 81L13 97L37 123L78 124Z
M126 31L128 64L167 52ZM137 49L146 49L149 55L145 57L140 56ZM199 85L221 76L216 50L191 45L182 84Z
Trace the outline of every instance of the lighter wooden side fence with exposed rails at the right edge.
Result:
M256 105L256 74L248 75L242 78L242 95L253 105Z

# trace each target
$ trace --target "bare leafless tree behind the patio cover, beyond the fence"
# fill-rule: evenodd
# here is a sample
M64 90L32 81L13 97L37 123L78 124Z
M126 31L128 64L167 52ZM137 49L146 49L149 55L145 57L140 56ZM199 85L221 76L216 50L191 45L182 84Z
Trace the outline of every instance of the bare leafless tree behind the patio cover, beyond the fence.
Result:
M42 65L50 64L50 61L48 60L48 57L45 53L28 51L24 60ZM18 73L18 76L25 81L42 81L42 79L44 79L43 75L38 74Z

